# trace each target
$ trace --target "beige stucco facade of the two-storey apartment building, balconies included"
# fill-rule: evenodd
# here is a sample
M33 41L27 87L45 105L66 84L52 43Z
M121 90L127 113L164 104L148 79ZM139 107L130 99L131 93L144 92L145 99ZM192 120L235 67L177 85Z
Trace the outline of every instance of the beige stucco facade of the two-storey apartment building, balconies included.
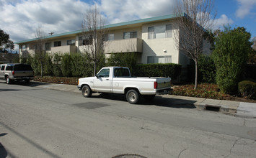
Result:
M172 37L168 38L158 38L158 39L148 39L148 27L155 27L160 25L172 24ZM137 25L136 25L137 26ZM182 64L183 67L187 66L189 61L185 55L183 55L175 47L175 31L178 31L177 25L173 20L167 20L164 22L151 22L149 24L141 24L141 27L131 27L122 29L110 30L110 34L114 35L114 40L109 41L106 45L105 53L110 52L142 52L139 56L139 63L146 64L149 56L171 56L172 63ZM137 38L124 40L124 32L137 32ZM50 42L51 51L50 52L76 52L77 50L82 50L79 46L79 34L72 34L70 37L56 38L53 40L48 40ZM67 40L75 40L75 47L67 46ZM61 47L53 47L54 42L61 41ZM32 44L27 44L27 50L32 48ZM205 43L207 46L208 44ZM76 47L78 48L76 50ZM20 52L22 52L20 50ZM49 52L49 51L48 51Z

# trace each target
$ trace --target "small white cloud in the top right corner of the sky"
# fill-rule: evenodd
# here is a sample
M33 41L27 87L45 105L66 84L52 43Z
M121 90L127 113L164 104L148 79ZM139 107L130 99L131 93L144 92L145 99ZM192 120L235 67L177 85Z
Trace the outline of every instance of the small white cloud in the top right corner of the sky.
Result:
M239 6L236 11L236 16L243 19L248 14L251 14L251 9L256 6L256 0L237 0Z

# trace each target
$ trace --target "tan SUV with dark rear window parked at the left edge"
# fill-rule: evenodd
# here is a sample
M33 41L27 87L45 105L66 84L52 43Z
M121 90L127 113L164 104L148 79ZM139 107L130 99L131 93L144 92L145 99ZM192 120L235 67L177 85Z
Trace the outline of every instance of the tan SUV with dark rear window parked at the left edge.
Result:
M34 71L28 64L1 64L0 79L6 80L6 83L12 83L14 80L24 80L30 83L34 79Z

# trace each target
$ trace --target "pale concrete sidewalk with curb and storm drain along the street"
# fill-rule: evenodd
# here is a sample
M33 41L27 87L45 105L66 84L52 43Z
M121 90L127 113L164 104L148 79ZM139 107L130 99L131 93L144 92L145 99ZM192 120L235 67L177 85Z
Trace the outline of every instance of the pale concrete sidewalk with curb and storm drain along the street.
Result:
M76 85L32 82L30 83L30 86L81 93ZM231 113L237 116L256 118L256 103L244 103L238 101L215 100L208 98L194 98L173 95L162 95L162 97L175 98L177 101L179 101L176 102L177 105L193 104L196 108L202 110L221 111L225 113Z

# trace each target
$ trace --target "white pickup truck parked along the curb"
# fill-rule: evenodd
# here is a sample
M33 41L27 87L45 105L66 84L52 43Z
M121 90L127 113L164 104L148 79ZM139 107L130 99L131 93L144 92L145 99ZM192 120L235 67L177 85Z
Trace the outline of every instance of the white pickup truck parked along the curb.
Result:
M79 78L79 90L84 97L92 93L125 94L129 103L138 103L141 96L152 99L171 90L171 78L133 78L125 67L102 68L95 77Z

